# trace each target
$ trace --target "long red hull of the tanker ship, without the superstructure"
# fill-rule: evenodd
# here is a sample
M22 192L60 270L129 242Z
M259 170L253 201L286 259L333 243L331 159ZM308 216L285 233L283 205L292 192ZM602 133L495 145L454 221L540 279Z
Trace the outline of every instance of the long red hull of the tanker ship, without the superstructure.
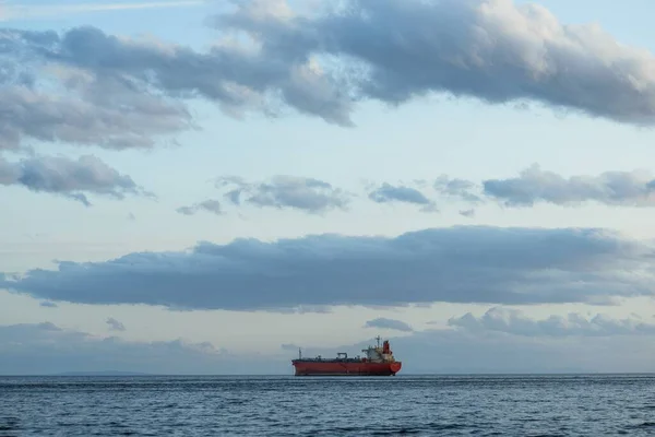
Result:
M303 362L294 359L296 376L393 376L402 363Z

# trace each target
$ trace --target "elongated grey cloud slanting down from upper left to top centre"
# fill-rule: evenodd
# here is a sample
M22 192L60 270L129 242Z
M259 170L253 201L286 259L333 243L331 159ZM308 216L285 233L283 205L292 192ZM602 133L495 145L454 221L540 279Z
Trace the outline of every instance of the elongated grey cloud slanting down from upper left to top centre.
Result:
M214 45L206 52L157 40L107 35L84 26L61 35L7 31L7 45L48 62L73 67L94 78L122 80L153 87L175 98L203 97L226 114L247 110L277 115L277 101L329 122L349 126L352 105L336 79L319 66L289 62L288 56L255 52L236 45ZM0 42L1 43L1 42Z

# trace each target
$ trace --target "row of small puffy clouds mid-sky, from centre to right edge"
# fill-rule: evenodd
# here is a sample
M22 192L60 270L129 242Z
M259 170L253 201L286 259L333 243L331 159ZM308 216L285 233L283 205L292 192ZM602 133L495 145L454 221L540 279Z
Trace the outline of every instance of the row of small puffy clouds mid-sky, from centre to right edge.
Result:
M454 200L471 206L489 202L508 208L534 206L539 202L561 206L580 206L586 202L608 206L655 206L655 176L643 169L565 178L533 164L522 170L519 177L474 182L441 175L431 185L440 200ZM347 210L353 198L358 197L334 188L326 181L296 176L274 176L255 182L228 176L218 178L216 186L233 205L295 209L309 213ZM406 185L366 184L365 190L364 198L374 203L404 203L417 205L424 212L438 211L433 200L419 189ZM217 214L223 211L218 201L206 200L179 208L178 212L191 215L201 210ZM474 217L475 212L473 208L458 210L462 216L468 218Z

